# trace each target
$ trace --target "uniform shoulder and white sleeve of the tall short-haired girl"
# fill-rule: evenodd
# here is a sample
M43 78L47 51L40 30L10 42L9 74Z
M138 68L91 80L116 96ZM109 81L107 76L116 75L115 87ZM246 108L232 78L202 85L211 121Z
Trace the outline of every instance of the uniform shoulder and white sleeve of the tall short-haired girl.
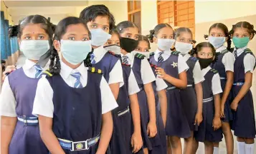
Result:
M95 48L91 54L91 63L95 68L103 71L103 76L108 84L120 83L123 86L122 66L115 53L106 51L103 46Z

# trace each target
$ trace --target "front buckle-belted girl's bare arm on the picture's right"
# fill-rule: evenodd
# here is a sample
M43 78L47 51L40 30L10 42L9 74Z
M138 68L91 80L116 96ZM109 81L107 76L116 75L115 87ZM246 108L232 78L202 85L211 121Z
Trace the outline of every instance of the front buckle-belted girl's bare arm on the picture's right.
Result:
M111 111L103 114L103 122L100 131L100 143L96 154L105 153L113 133L113 119Z

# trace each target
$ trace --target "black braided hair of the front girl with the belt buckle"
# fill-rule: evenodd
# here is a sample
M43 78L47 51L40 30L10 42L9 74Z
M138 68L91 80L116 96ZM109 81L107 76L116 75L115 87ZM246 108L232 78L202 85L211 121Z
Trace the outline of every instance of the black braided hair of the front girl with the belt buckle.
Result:
M91 38L90 36L90 31L87 28L87 25L85 24L85 22L82 19L79 19L75 16L70 16L67 17L65 19L62 19L59 24L57 24L56 29L55 29L55 33L54 33L54 40L60 41L62 39L62 36L66 33L67 31L67 27L72 25L72 24L83 24L85 26L85 29L87 29L88 34L89 34L89 38ZM89 60L90 60L90 54L88 54L89 56ZM88 58L87 56L87 58ZM54 63L54 59L55 63ZM88 61L88 59L85 59L85 66L87 66L87 63L90 63L90 61ZM54 48L51 52L51 62L49 64L49 72L52 74L59 74L60 73L60 57L57 53L57 50Z

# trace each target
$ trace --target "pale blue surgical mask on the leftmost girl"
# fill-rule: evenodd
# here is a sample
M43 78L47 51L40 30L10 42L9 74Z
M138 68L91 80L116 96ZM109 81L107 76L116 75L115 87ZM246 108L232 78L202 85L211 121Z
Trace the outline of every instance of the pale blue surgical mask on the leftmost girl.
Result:
M20 44L20 51L31 60L39 60L49 50L48 40L24 40Z

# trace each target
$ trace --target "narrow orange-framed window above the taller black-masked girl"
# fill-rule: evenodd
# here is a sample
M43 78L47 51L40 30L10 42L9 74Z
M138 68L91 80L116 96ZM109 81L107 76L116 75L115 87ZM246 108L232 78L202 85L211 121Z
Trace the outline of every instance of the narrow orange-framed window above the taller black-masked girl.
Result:
M141 32L141 1L131 0L128 4L128 21L132 21L138 26Z

